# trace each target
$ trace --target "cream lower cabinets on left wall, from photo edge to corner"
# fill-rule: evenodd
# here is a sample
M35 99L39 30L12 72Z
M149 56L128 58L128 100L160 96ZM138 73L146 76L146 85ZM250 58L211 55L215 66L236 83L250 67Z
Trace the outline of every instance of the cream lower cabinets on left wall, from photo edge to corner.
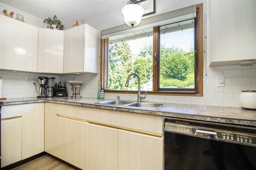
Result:
M1 167L44 152L44 103L3 106Z

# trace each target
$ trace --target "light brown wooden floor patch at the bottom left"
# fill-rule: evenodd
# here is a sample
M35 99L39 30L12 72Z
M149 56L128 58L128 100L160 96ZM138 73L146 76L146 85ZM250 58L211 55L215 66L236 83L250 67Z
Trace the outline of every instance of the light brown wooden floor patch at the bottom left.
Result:
M66 169L74 169L66 164L63 164L59 161L57 161L56 159L53 159L52 157L48 156L48 155L44 155L40 158L34 159L30 162L27 162L23 165L17 166L15 168L13 168L15 170L66 170Z

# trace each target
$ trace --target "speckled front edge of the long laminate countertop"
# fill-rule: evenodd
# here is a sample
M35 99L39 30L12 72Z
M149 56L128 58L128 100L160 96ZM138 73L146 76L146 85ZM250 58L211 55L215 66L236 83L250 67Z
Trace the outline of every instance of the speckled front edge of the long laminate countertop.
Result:
M214 116L204 116L204 115L189 115L189 114L183 114L183 113L164 112L164 111L149 110L149 109L133 109L133 108L125 108L125 107L117 107L117 106L106 106L106 105L100 105L96 103L91 104L91 103L79 103L79 102L75 103L75 102L67 102L67 101L57 101L52 99L51 100L37 99L37 100L15 101L15 102L0 102L0 105L2 104L2 106L8 106L8 105L31 104L31 103L42 103L42 102L256 127L256 121L247 120L247 119L236 119L232 117L230 118L214 117Z

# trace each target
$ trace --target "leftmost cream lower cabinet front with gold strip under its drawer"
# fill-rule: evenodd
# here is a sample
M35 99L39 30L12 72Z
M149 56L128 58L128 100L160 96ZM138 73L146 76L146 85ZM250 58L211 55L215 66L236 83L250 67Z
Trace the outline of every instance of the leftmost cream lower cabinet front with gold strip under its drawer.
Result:
M1 167L22 160L22 107L3 106L1 117Z

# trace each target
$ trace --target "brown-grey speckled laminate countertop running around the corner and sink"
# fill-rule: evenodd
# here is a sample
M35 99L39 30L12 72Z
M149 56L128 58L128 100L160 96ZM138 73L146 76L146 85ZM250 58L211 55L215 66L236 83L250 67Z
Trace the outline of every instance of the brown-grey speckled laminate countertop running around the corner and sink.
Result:
M118 110L125 112L134 112L140 114L152 114L167 117L185 118L202 120L207 122L218 122L236 125L245 125L256 127L256 111L245 110L237 107L221 107L221 106L204 106L204 105L187 105L187 104L176 104L166 103L163 107L152 110L143 108L134 108L129 106L110 106L98 104L100 101L96 98L82 98L82 99L71 99L71 98L12 98L0 101L0 105L17 105L17 104L28 104L28 103L58 103L68 104L75 106L83 106L90 108Z

